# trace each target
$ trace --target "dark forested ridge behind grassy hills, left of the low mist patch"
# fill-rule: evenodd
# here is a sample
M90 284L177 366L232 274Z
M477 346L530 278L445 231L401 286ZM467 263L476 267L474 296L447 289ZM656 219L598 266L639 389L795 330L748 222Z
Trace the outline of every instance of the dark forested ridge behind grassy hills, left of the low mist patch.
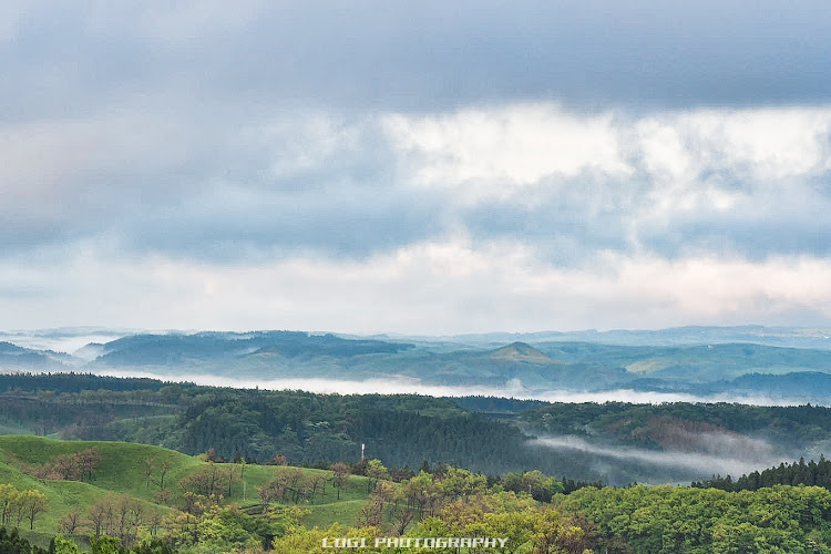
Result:
M148 382L150 381L150 382ZM146 384L146 388L145 388ZM223 459L453 463L489 473L545 465L512 423L445 399L239 390L93 376L0 376L7 432L127 440ZM94 409L91 407L94 406Z

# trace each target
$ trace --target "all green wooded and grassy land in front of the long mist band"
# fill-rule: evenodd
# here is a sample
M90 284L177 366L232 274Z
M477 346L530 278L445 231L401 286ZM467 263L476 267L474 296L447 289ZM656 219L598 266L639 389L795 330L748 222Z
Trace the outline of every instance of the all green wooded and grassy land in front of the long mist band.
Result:
M701 437L745 448L763 434L786 452L828 438L822 407L316 394L82 373L3 375L0 400L0 552L338 552L322 540L389 536L500 536L505 546L486 552L517 554L831 552L824 456L736 478L705 464L686 485L646 485L611 483L627 473L587 466L599 454L534 445L567 435L677 456Z

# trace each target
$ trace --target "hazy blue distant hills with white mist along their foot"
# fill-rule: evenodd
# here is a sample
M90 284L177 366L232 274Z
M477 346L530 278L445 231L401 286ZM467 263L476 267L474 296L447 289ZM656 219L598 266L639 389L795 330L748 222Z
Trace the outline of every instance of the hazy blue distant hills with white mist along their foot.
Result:
M61 332L48 335L63 340ZM100 329L95 332L95 337L104 336ZM536 399L564 398L572 392L629 399L633 397L626 391L635 390L696 394L705 400L718 394L719 400L727 396L748 402L782 396L758 379L737 381L731 388L732 381L743 376L831 375L829 332L757 326L683 327L412 340L287 330L143 332L90 342L76 348L74 356L27 348L31 340L0 342L0 371L145 375L203 384L233 379L240 384L245 380L249 387L312 391L341 390L332 387L341 381L348 381L342 390L362 392L425 392L438 386L452 388L440 392L449 396ZM0 337L11 340L18 335ZM71 339L78 343L78 337ZM788 390L788 401L831 403L818 399L817 389L810 386L794 384Z

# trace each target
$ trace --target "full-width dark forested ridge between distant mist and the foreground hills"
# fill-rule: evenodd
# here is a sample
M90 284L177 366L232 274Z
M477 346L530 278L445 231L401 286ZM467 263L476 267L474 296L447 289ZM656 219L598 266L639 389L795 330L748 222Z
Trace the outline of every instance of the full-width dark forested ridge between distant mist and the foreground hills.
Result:
M602 449L705 452L767 449L796 460L831 439L831 409L731 403L546 403L412 394L316 394L202 387L80 373L0 376L0 431L64 439L126 440L222 459L326 465L366 454L390 466L444 462L499 474L540 469L613 484L702 481L701 465L667 469L579 449L533 447L534 437L582 438ZM714 438L720 438L714 441ZM804 454L808 455L808 454ZM738 472L737 472L738 473ZM733 473L733 474L737 474ZM725 474L722 472L722 474Z

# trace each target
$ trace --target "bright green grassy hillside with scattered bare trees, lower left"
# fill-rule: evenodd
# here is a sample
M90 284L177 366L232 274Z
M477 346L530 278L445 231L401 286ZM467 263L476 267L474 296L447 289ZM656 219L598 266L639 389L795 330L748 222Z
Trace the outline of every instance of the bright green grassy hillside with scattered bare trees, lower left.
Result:
M91 449L96 451L100 461L92 478L86 481L32 475L38 468L54 463L62 456L65 459ZM164 476L160 479L163 468ZM153 517L152 514L164 519L172 514L173 506L182 507L183 493L191 486L188 483L209 471L223 479L224 504L236 503L244 510L255 512L261 506L257 486L267 484L276 474L299 472L300 479L311 480L318 475L328 478L331 473L291 466L213 463L145 444L0 435L0 483L21 491L35 490L48 499L48 510L37 519L34 525L34 531L43 536L59 532L61 521L71 512L76 511L84 519L91 506L104 499L113 499L113 495L138 502L145 520ZM228 475L233 478L230 481ZM329 485L320 489L310 502L304 502L302 506L310 512L305 521L309 525L326 526L336 521L351 523L366 496L366 478L350 476L340 491L339 500ZM89 533L89 524L84 529Z

